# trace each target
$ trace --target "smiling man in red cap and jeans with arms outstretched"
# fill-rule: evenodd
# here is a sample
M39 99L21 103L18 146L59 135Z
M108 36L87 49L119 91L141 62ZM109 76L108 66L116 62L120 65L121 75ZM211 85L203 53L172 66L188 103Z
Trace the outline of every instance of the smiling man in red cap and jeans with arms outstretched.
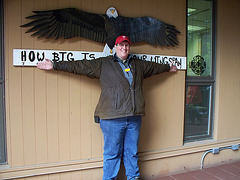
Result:
M95 110L104 137L103 180L116 179L123 158L128 180L139 179L138 141L144 115L143 79L176 66L142 61L129 54L131 42L119 36L114 56L95 60L54 62L46 60L37 67L62 70L98 78L101 95Z

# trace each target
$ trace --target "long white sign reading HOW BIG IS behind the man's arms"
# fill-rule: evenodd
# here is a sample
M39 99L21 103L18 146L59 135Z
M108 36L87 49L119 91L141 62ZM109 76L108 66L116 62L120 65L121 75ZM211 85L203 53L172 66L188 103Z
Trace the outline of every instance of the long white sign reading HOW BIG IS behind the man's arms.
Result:
M133 54L133 56L144 61L153 61L160 64L173 63L178 69L186 70L186 57L148 54ZM14 66L36 66L38 62L44 61L44 59L76 61L82 59L93 60L100 57L103 57L103 52L13 49Z

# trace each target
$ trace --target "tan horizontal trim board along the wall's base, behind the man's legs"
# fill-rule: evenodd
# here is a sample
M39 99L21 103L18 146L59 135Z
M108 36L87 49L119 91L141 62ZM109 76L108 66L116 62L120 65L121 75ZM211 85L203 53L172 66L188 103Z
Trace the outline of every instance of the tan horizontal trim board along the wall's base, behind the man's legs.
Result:
M182 147L169 148L156 151L142 152L139 154L139 161L158 160L176 156L200 153L216 147L226 147L234 144L240 144L240 138L229 139L223 141L201 141L196 143L188 143ZM102 158L92 158L76 161L65 161L48 164L39 164L32 166L8 167L0 170L0 179L16 179L41 175L50 175L56 173L65 173L73 171L83 171L89 169L102 168ZM7 167L7 166L5 166Z

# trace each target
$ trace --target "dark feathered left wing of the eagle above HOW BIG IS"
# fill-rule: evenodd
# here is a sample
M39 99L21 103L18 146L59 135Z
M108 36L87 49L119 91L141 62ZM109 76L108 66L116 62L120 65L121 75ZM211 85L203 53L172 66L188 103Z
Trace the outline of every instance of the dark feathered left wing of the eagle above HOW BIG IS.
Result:
M35 32L32 36L55 39L79 36L101 43L106 42L105 17L102 15L76 8L33 12L35 15L26 18L34 20L21 26L32 27L27 31Z

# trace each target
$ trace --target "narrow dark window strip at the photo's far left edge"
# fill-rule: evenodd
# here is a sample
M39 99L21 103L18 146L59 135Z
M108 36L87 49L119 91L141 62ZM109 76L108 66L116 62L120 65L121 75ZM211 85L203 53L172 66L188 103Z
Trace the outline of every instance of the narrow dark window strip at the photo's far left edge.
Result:
M0 1L0 164L6 163L3 14L3 1Z

